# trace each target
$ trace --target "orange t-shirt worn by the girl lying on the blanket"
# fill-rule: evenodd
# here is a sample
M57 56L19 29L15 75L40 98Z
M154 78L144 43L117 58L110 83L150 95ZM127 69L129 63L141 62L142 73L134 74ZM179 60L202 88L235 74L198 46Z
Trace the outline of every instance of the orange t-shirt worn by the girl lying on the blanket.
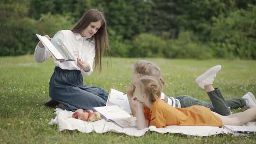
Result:
M222 126L222 121L214 115L210 108L191 106L188 108L174 108L164 100L156 100L149 109L144 106L145 118L149 126Z

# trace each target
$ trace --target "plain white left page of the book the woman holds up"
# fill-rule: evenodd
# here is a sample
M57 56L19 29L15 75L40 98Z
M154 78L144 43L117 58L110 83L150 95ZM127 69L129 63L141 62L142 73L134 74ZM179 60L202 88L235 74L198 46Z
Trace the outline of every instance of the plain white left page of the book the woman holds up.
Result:
M56 59L64 59L62 54L55 48L55 46L49 41L45 36L41 36L36 34L39 40L43 43L43 45L55 56Z

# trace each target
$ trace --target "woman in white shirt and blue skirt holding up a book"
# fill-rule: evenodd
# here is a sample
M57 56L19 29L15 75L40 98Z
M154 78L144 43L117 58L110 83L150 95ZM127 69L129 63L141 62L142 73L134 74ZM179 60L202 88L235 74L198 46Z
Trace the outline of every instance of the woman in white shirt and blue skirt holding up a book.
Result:
M46 35L48 39L49 36ZM49 83L49 95L52 98L46 106L75 111L78 108L91 109L105 106L108 93L106 90L83 85L83 75L90 75L92 65L101 72L103 51L109 47L106 20L97 9L85 12L71 30L61 30L54 36L59 38L77 61L54 61L55 71ZM35 50L38 63L50 57L49 51L41 42Z

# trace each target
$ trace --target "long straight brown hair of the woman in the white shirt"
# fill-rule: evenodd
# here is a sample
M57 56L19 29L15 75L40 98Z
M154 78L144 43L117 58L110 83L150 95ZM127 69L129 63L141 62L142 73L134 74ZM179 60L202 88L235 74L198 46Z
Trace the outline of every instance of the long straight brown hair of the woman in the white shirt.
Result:
M86 27L88 27L91 22L101 21L101 27L94 34L95 42L95 68L98 68L101 72L102 68L102 57L104 49L107 50L107 55L110 52L109 38L107 32L107 23L104 15L97 9L90 9L86 11L82 18L76 23L76 25L71 29L73 33L81 33Z

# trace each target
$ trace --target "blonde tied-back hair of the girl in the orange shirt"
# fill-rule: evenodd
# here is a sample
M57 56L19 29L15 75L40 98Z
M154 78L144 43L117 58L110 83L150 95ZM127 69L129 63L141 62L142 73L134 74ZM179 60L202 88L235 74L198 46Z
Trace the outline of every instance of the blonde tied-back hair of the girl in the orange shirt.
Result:
M152 76L142 76L140 81L144 87L142 90L149 96L150 101L155 101L161 97L163 81Z

